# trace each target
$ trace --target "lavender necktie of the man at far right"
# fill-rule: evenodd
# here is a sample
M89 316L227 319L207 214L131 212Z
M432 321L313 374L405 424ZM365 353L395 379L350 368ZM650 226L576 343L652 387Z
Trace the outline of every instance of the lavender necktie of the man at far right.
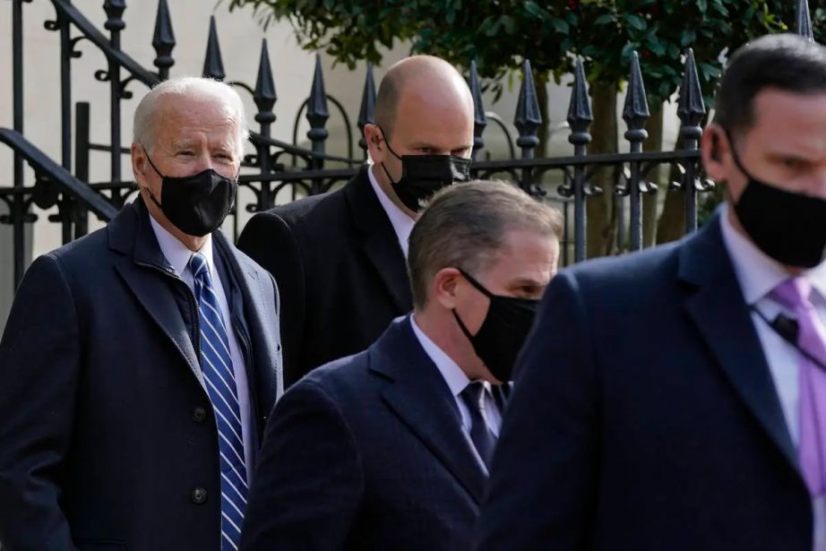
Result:
M795 314L797 346L826 363L826 328L809 301L812 285L803 277L780 283L771 297ZM809 493L826 492L826 372L805 354L799 354L798 459Z

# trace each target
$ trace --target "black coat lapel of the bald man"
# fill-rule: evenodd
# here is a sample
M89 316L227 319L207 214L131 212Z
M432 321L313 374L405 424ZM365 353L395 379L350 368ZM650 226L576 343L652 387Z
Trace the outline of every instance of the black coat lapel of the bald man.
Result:
M390 292L399 314L404 314L409 312L413 304L407 266L396 232L370 185L367 176L369 169L362 168L345 186L344 196L353 222L363 236L362 247L368 261L374 265Z

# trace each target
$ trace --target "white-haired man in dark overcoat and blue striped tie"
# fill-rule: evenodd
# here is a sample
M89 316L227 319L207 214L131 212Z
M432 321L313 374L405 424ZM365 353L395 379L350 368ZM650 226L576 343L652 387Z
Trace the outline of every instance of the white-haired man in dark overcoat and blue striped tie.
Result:
M26 273L0 340L0 547L237 547L282 389L275 282L219 230L245 137L226 84L159 84L138 199Z

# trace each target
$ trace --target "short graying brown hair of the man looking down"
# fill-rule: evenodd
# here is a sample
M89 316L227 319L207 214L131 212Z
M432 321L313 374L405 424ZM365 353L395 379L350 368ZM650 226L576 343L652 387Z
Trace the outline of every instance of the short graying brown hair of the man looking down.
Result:
M437 271L486 269L511 229L563 235L562 215L516 185L496 180L454 184L437 192L410 233L408 271L413 304L427 303Z

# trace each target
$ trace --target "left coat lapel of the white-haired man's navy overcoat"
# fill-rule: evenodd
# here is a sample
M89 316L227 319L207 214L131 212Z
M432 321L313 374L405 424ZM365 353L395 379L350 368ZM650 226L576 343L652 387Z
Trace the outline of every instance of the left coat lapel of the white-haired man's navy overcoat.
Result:
M109 224L110 248L125 253L116 264L116 270L141 306L175 346L198 382L204 386L201 363L195 353L192 337L169 289L170 280L177 278L160 252L148 217L143 202L137 199ZM185 285L183 282L179 284ZM195 312L193 315L197 316Z

